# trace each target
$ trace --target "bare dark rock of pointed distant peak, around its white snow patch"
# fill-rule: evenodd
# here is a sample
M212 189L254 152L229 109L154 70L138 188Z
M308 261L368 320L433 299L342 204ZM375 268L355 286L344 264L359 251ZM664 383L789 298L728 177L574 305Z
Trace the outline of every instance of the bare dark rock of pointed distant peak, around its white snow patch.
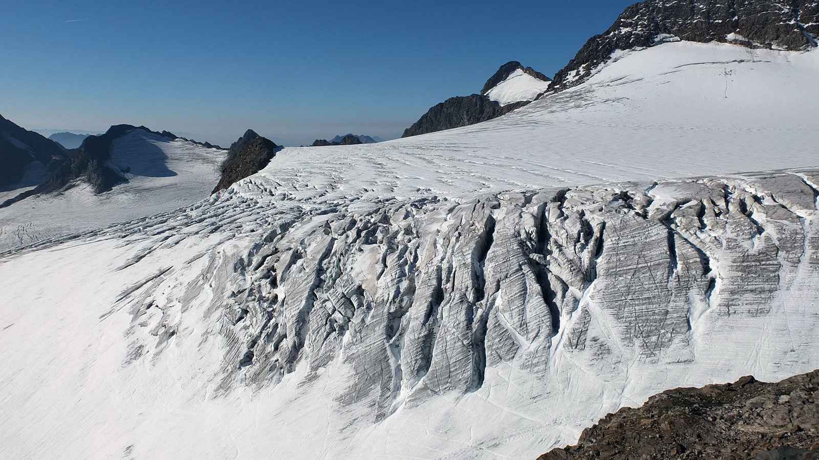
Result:
M497 101L486 97L487 92L490 92L492 88L504 82L505 79L509 78L510 74L518 69L523 70L525 74L532 75L532 77L536 79L550 81L548 77L532 69L532 67L523 67L518 61L509 61L501 65L500 69L486 80L480 94L450 97L446 101L432 106L418 121L408 129L405 129L401 137L408 138L409 136L434 133L444 129L460 128L461 126L468 126L469 124L481 123L482 121L492 120L512 110L526 106L531 101L514 101L501 106Z

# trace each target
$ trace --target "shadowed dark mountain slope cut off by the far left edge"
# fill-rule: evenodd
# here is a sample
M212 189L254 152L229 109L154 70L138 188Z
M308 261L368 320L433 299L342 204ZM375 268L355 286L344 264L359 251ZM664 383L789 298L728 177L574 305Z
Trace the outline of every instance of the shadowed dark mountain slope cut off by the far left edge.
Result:
M28 148L20 147L18 142ZM19 182L32 161L53 170L65 159L66 149L60 144L20 128L0 115L0 189Z

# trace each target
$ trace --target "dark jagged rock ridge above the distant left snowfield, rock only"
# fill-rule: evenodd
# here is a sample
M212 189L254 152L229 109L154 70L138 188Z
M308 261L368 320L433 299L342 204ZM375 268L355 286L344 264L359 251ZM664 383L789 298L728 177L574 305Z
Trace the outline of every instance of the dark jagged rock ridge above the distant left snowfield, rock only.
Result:
M179 138L174 133L168 131L156 132L147 129L144 126L133 126L131 124L115 124L109 128L106 133L98 136L88 136L85 138L82 145L76 151L72 151L72 155L68 156L66 161L61 162L60 165L54 169L51 176L43 183L34 187L34 189L2 202L0 208L25 200L29 196L34 196L42 193L57 192L63 187L70 185L75 180L81 179L91 184L94 193L108 192L117 183L128 182L127 178L117 173L114 169L106 166L107 160L111 157L111 144L117 139L121 138L134 129L143 129L148 133L154 133L169 139L182 139L183 141L193 142L204 147L219 148L213 146L209 142L196 142L186 138ZM44 139L44 138L43 138ZM53 141L49 141L53 142ZM57 142L54 142L57 144ZM58 145L58 144L57 144ZM62 147L60 147L62 148Z

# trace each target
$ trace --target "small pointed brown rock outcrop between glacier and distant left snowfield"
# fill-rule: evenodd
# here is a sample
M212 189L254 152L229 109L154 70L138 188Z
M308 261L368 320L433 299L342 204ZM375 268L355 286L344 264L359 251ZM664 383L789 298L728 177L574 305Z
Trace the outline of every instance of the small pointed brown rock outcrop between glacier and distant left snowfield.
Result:
M274 142L248 129L231 144L228 156L222 163L222 177L211 193L224 190L233 183L258 173L276 156L278 150L279 147Z

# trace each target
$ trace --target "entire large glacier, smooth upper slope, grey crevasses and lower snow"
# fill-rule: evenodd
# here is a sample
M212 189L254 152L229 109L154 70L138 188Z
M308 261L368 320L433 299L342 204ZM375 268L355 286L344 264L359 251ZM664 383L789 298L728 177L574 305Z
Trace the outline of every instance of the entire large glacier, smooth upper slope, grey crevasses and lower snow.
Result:
M533 458L669 387L819 368L819 54L617 57L3 255L0 457Z

